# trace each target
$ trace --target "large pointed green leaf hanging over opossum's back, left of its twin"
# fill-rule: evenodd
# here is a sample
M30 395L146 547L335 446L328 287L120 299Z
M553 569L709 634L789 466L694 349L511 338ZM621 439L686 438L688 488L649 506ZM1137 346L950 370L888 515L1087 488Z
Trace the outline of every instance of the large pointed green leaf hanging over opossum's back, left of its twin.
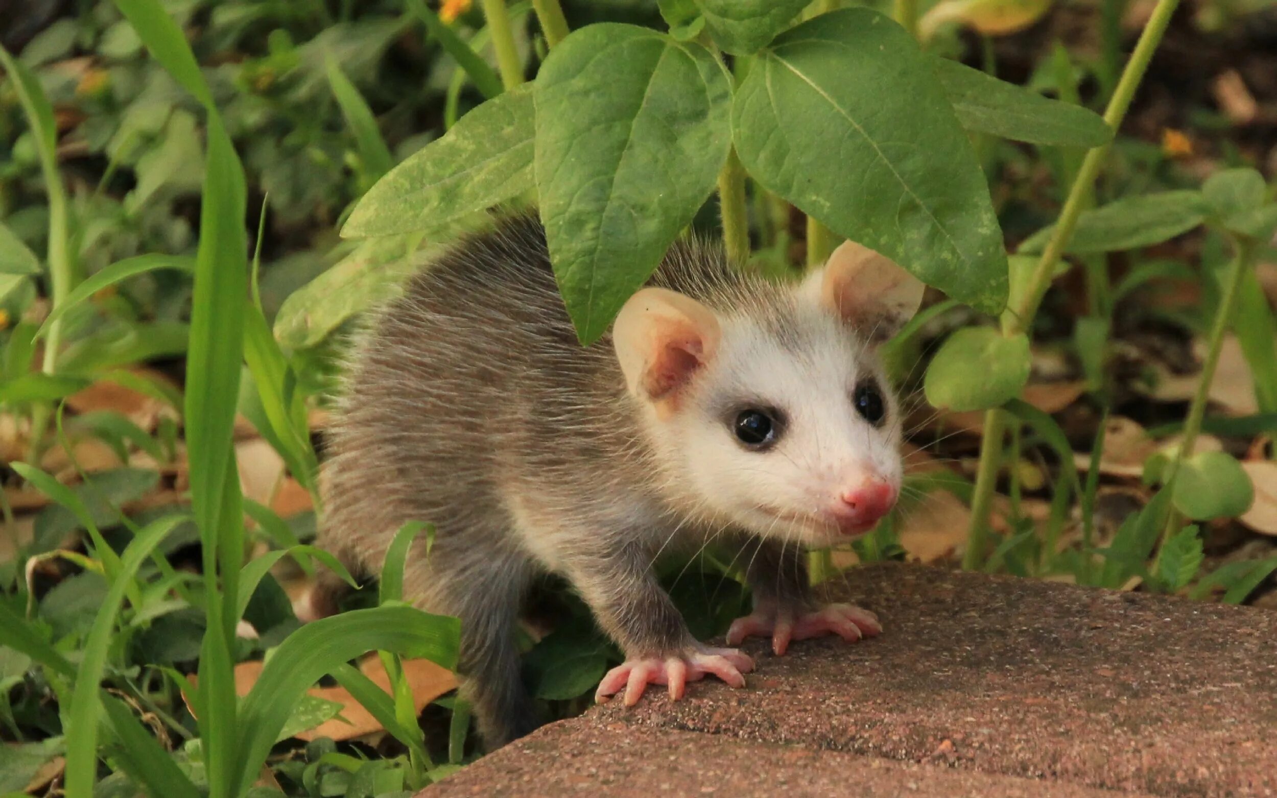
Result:
M536 186L577 337L601 336L714 190L730 83L701 45L586 26L536 77Z

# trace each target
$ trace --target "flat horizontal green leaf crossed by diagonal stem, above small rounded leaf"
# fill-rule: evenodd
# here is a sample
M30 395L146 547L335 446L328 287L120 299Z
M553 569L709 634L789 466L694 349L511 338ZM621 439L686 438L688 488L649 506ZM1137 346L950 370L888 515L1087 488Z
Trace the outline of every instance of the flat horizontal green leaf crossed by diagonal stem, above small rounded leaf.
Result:
M1152 246L1193 230L1205 220L1207 207L1197 192L1158 192L1128 197L1083 211L1065 250L1091 255ZM1055 225L1038 230L1020 244L1020 254L1038 254Z

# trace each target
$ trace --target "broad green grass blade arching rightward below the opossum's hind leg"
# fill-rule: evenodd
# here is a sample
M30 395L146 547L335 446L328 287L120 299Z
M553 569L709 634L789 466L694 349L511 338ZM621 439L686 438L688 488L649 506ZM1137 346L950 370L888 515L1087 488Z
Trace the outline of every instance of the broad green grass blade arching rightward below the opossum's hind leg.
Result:
M373 650L424 656L456 668L460 631L456 618L410 606L378 606L322 618L290 635L240 706L234 793L253 783L292 707L323 674Z

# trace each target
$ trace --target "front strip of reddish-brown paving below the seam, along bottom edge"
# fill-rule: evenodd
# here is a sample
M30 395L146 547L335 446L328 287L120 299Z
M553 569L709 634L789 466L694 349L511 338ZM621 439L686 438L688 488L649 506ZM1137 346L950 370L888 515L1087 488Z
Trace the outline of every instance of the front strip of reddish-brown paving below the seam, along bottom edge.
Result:
M1112 798L1115 793L939 765L751 743L598 718L557 723L444 779L421 798Z

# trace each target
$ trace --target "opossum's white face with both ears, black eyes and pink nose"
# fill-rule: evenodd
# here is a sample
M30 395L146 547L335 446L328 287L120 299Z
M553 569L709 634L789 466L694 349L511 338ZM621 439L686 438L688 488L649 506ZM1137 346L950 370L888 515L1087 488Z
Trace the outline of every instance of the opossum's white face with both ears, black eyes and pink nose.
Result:
M902 478L900 410L873 346L922 292L888 258L847 243L794 286L784 318L636 294L613 342L681 493L713 517L812 545L871 530Z

